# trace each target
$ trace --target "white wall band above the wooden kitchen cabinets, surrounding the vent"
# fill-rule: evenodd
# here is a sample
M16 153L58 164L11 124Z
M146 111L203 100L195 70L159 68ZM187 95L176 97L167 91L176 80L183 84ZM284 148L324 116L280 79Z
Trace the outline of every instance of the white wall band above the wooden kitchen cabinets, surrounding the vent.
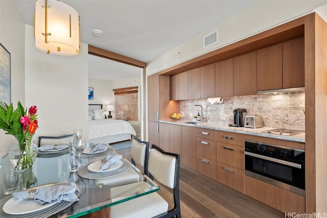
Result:
M150 61L147 75L172 67L186 60L203 55L209 51L224 47L249 36L271 29L287 21L312 12L315 8L327 4L327 1L258 1L244 11L233 15L213 26L211 29L167 51ZM205 49L202 37L219 31L219 42Z

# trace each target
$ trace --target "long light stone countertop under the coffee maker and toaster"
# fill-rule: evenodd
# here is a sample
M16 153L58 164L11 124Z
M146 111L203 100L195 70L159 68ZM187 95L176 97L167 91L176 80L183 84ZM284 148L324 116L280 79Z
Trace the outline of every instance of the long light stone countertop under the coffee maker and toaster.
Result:
M282 139L282 140L289 140L294 142L301 142L305 143L305 132L301 132L294 135L276 135L270 133L263 133L262 131L274 129L270 127L261 127L261 128L246 128L246 127L231 127L227 126L225 123L219 122L200 122L197 124L191 124L187 122L191 122L191 120L160 120L160 123L168 123L168 124L175 124L175 125L182 125L182 126L190 126L190 127L198 127L198 128L207 128L207 129L214 129L214 130L221 130L221 131L228 131L228 132L236 132L242 134L249 134L249 135L256 135L260 137L267 137L273 139Z

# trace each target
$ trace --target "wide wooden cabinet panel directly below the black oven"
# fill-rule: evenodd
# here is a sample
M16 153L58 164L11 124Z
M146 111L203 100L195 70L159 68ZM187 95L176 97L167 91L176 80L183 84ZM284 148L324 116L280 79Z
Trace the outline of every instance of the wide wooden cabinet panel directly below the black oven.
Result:
M245 194L282 212L305 213L305 197L249 176L245 176Z

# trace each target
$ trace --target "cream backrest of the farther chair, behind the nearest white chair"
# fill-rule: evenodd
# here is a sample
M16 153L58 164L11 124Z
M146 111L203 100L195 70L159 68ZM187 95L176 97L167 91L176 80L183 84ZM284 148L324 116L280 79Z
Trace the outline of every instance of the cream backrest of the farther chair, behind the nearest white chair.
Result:
M149 175L149 142L141 141L135 136L132 140L131 157L133 165L143 171L144 174Z

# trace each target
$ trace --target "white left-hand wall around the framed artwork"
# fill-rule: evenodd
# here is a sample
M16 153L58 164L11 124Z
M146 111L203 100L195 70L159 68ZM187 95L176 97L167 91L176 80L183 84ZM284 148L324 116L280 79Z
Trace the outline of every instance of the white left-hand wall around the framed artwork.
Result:
M10 52L11 101L25 105L25 24L13 1L0 1L0 43ZM0 130L0 151L8 154L15 140Z

